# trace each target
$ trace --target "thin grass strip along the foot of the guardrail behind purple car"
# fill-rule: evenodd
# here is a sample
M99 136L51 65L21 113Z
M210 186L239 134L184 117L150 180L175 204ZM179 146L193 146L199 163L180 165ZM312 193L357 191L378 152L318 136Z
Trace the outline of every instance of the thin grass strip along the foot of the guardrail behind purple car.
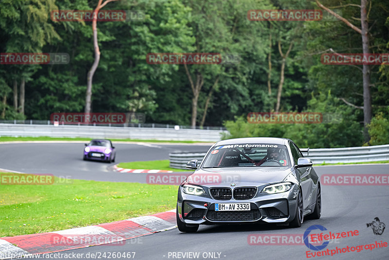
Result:
M66 137L11 137L11 136L1 136L0 142L11 142L11 141L90 141L93 138L86 137L75 137L75 138L66 138ZM201 142L201 141L166 141L166 140L141 140L141 139L109 139L112 142L145 142L145 143L210 143L210 142Z

